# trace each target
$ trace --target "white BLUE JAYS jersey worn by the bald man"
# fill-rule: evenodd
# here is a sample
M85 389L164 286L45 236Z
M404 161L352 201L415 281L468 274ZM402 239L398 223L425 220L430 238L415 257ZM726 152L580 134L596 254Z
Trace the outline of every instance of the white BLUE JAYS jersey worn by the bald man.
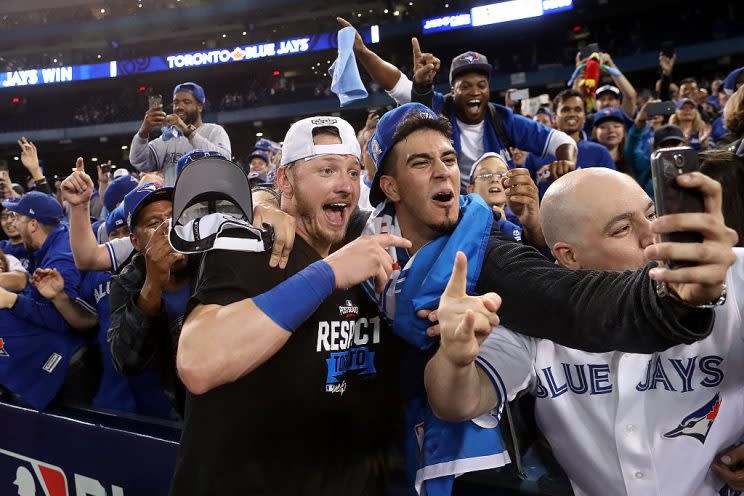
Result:
M661 353L586 353L495 329L478 365L499 398L528 391L577 496L715 495L710 465L744 433L744 249L706 339Z

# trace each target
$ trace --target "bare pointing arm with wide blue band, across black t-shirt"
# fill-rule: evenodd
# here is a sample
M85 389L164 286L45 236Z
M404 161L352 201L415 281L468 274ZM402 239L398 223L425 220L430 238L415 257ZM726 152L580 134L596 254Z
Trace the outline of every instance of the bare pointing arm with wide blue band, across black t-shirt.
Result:
M195 298L201 304L186 318L178 343L183 383L192 393L203 394L249 374L274 356L335 288L376 277L381 290L392 269L386 251L391 246L410 243L389 234L359 238L274 288L250 298L236 296L226 305L206 303L211 297L200 295L197 286ZM211 266L207 258L202 277L214 276L210 270L224 269ZM291 307L288 298L294 302Z

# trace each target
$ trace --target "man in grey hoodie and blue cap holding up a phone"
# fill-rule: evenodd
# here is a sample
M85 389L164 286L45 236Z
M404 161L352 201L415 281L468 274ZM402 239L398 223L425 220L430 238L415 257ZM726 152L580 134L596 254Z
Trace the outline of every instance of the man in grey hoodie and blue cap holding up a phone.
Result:
M232 158L230 138L219 124L205 124L204 89L196 83L181 83L173 89L173 113L166 115L162 105L145 113L129 148L129 161L141 172L162 170L166 186L176 183L178 159L191 150L216 151ZM148 143L153 128L162 129L162 136Z

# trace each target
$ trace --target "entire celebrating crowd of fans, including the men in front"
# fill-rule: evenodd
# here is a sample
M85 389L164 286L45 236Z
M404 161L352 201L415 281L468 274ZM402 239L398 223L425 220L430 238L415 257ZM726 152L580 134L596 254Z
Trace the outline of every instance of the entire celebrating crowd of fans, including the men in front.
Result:
M3 396L182 419L174 495L386 494L393 452L410 491L456 494L535 450L575 494L744 490L744 67L703 87L662 52L646 92L581 54L520 115L483 54L441 94L415 38L410 77L353 52L396 108L240 164L194 82L147 110L132 171L81 158L53 191L19 140ZM670 148L702 211L657 217Z

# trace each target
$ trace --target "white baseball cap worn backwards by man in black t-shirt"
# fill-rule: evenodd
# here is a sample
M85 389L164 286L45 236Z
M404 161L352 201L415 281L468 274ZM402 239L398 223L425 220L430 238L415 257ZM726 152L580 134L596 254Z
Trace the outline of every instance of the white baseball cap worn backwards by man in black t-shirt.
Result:
M316 145L313 142L313 129L335 127L341 136L341 143ZM282 162L285 166L296 160L309 159L318 155L353 155L362 159L362 149L351 124L340 117L308 117L297 121L289 128L282 146Z

